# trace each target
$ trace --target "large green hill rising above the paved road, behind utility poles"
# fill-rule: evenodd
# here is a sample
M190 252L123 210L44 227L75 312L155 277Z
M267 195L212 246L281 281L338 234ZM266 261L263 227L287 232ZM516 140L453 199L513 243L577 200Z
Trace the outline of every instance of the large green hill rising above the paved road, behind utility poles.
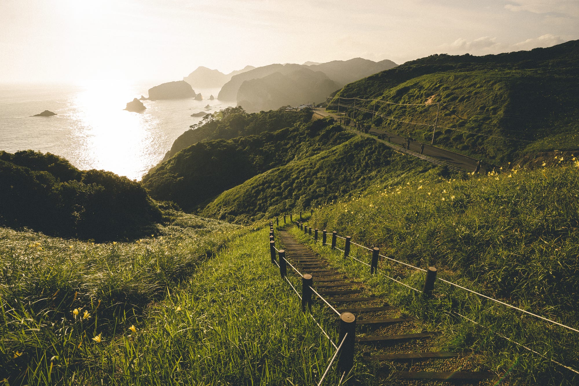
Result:
M434 55L350 83L332 103L359 121L502 165L535 151L579 148L579 41L476 57ZM354 100L369 112L354 114ZM337 109L332 105L332 109ZM397 121L398 120L398 121ZM400 121L409 121L406 123ZM422 125L426 123L427 125Z

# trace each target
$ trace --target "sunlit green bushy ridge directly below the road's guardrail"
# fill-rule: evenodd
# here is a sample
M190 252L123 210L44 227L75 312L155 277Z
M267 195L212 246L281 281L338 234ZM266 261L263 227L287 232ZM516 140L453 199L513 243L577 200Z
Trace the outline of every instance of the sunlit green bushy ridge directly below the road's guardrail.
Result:
M376 141L354 137L223 192L201 214L228 221L254 221L351 196L378 181L393 184L431 167L430 163L397 154Z

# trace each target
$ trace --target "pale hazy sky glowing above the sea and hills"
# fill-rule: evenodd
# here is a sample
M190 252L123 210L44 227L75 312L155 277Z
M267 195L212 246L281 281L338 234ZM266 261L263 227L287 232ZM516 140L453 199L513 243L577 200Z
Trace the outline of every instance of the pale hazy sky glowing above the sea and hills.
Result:
M487 54L579 38L578 0L0 0L0 82Z

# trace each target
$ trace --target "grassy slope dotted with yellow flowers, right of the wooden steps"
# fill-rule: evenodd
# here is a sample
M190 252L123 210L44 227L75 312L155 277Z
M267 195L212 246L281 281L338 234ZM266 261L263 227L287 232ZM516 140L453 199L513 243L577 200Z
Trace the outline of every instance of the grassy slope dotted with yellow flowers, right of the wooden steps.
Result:
M309 224L351 235L353 241L378 246L382 254L417 267L434 265L441 278L577 329L579 164L563 164L467 180L426 173L400 185L375 185L353 199L314 210ZM354 247L353 252L369 263L365 250ZM497 333L576 369L577 333L442 282L437 282L435 300L424 304L412 290L383 276L370 279L365 265L340 260L334 262L375 283L393 304L449 330L444 348L475 348L488 356L491 369L506 372L514 366L512 383L576 381L574 373L528 355ZM422 288L423 272L385 259L379 267Z

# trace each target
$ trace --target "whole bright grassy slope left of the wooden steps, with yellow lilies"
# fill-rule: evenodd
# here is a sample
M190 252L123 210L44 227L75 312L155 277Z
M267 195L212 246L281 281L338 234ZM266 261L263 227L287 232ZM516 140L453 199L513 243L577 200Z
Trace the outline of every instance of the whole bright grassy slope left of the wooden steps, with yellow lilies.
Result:
M104 245L0 228L0 378L10 385L317 383L334 347L272 265L269 227L179 221L162 238ZM228 246L218 250L223 241ZM333 316L319 306L313 315L336 341ZM357 366L358 381L376 384L368 365ZM336 384L336 374L327 381Z

